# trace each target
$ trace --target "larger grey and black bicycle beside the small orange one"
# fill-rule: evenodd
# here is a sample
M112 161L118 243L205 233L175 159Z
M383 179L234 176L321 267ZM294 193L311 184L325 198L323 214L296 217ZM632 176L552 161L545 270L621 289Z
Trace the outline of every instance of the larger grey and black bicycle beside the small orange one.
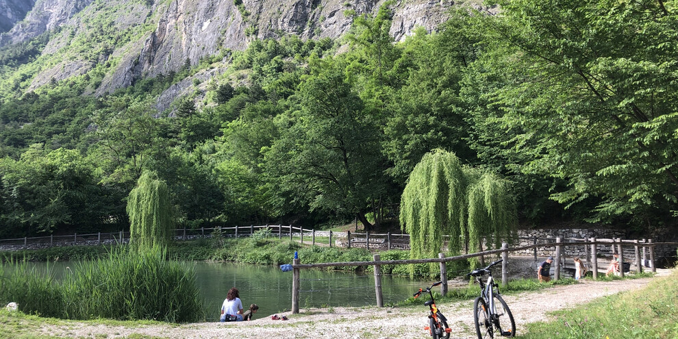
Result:
M481 290L480 297L477 297L473 302L473 310L475 311L473 318L475 320L475 331L478 334L478 339L494 338L495 333L503 337L516 336L516 322L513 319L513 314L511 314L511 310L509 310L504 299L499 295L499 284L494 282L492 271L490 271L492 266L499 264L500 262L501 259L492 262L492 264L489 264L485 268L473 270L466 275L466 277L475 277ZM483 281L482 277L486 274L488 275L488 279L487 281ZM497 301L499 301L499 303L497 303ZM497 305L501 305L501 310L497 310ZM510 329L505 329L502 326L502 319L506 318L508 318L508 320L504 320L503 325L508 325L506 322L510 321ZM497 330L496 332L494 331L495 329Z

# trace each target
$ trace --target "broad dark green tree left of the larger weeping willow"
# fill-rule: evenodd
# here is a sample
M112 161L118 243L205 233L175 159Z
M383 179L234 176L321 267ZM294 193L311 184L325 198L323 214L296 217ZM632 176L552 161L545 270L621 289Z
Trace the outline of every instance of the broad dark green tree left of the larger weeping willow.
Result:
M302 85L299 110L277 119L281 138L266 153L266 171L312 210L357 216L369 230L366 206L385 192L385 162L379 128L344 68L330 66Z

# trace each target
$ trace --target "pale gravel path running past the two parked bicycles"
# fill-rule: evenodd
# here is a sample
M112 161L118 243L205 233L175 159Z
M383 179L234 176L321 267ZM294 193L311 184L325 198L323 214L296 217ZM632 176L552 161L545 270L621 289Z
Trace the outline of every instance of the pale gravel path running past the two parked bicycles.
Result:
M657 276L669 270L657 270ZM645 286L652 278L620 281L583 281L581 284L555 286L538 292L523 292L504 297L516 320L516 332L525 323L545 321L544 310L560 310L579 303ZM588 299L582 300L586 295ZM475 338L473 301L440 303L455 339ZM190 325L149 325L123 327L90 325L73 322L64 326L45 326L42 333L74 338L123 338L131 334L160 338L427 338L428 308L420 307L334 307L334 309L301 310L302 314L286 315L288 321L258 318L242 323L195 323ZM304 313L305 312L305 313ZM37 334L37 333L36 333ZM430 338L430 337L429 337Z

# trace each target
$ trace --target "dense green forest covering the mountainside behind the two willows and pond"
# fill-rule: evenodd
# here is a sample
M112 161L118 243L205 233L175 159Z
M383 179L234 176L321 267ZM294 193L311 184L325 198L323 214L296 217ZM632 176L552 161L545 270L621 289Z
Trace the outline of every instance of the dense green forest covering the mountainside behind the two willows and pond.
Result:
M675 1L505 0L403 42L390 5L347 11L337 40L253 40L103 97L110 61L29 90L49 33L3 47L0 238L129 227L145 170L186 227L357 218L369 230L397 219L436 149L508 179L526 227L675 227ZM97 35L101 48L119 33ZM201 92L193 76L223 60ZM184 79L193 95L159 111Z

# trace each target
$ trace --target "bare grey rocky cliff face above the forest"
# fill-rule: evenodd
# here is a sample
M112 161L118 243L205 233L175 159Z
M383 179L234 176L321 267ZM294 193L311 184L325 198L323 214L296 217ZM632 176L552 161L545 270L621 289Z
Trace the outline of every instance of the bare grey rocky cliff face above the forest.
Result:
M129 86L138 77L177 71L223 49L244 49L256 38L296 34L339 38L351 18L375 14L384 0L37 0L25 20L0 35L0 45L52 30L31 89L84 75L105 75L95 93ZM444 22L453 2L401 0L391 34L403 40L414 27L429 31Z

